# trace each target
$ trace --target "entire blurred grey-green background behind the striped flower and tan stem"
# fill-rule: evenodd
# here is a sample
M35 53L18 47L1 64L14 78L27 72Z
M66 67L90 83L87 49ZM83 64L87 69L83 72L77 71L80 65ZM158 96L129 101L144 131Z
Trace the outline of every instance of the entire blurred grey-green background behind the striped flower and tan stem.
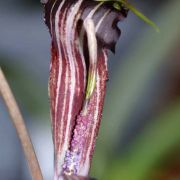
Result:
M91 176L99 180L180 180L180 1L130 1L161 32L131 12L119 24ZM0 66L20 105L44 179L52 179L47 83L50 36L36 0L0 2ZM0 180L31 179L0 98Z

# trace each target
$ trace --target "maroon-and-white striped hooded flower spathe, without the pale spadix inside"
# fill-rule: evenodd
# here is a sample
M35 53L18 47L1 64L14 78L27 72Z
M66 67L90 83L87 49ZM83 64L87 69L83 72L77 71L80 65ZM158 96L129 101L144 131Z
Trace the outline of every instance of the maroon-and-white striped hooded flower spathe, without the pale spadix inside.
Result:
M45 4L45 22L52 37L49 96L54 179L60 179L62 174L88 175L108 79L106 49L114 51L120 36L117 22L126 15L125 10L118 12L108 3L92 0L49 0ZM94 65L84 28L87 19L92 20L97 39ZM86 98L88 76L93 67L95 87Z

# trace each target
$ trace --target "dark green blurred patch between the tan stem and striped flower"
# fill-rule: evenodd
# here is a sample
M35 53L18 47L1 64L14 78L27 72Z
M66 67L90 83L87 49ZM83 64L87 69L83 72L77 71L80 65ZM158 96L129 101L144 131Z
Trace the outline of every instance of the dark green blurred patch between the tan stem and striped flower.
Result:
M9 64L6 60L7 57L0 56L1 68L6 74L15 97L21 97L20 105L30 114L47 116L49 105L48 100L44 98L47 97L47 89L43 88L36 76L26 67L21 67L20 64L17 66L15 59L9 60L8 62L11 62Z

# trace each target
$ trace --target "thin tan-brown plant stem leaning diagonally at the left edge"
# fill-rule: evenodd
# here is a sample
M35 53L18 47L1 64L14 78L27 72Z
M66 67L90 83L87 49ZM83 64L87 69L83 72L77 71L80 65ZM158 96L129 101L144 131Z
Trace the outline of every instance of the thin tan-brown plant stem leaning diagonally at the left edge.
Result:
M28 131L26 129L22 114L13 96L13 93L8 85L8 82L2 72L0 67L0 94L4 99L4 102L9 111L11 120L14 127L16 128L18 137L20 139L21 145L23 147L27 163L31 172L33 180L42 180L41 169L29 137Z

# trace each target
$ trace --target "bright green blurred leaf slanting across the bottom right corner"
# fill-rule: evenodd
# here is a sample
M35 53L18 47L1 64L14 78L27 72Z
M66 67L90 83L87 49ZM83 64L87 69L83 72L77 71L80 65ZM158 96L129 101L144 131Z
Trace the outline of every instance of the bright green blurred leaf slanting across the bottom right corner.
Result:
M110 160L104 180L149 179L148 174L160 159L180 145L180 101L173 105L168 112L161 114L153 123L144 129L130 152L124 157ZM180 178L180 174L178 176Z

